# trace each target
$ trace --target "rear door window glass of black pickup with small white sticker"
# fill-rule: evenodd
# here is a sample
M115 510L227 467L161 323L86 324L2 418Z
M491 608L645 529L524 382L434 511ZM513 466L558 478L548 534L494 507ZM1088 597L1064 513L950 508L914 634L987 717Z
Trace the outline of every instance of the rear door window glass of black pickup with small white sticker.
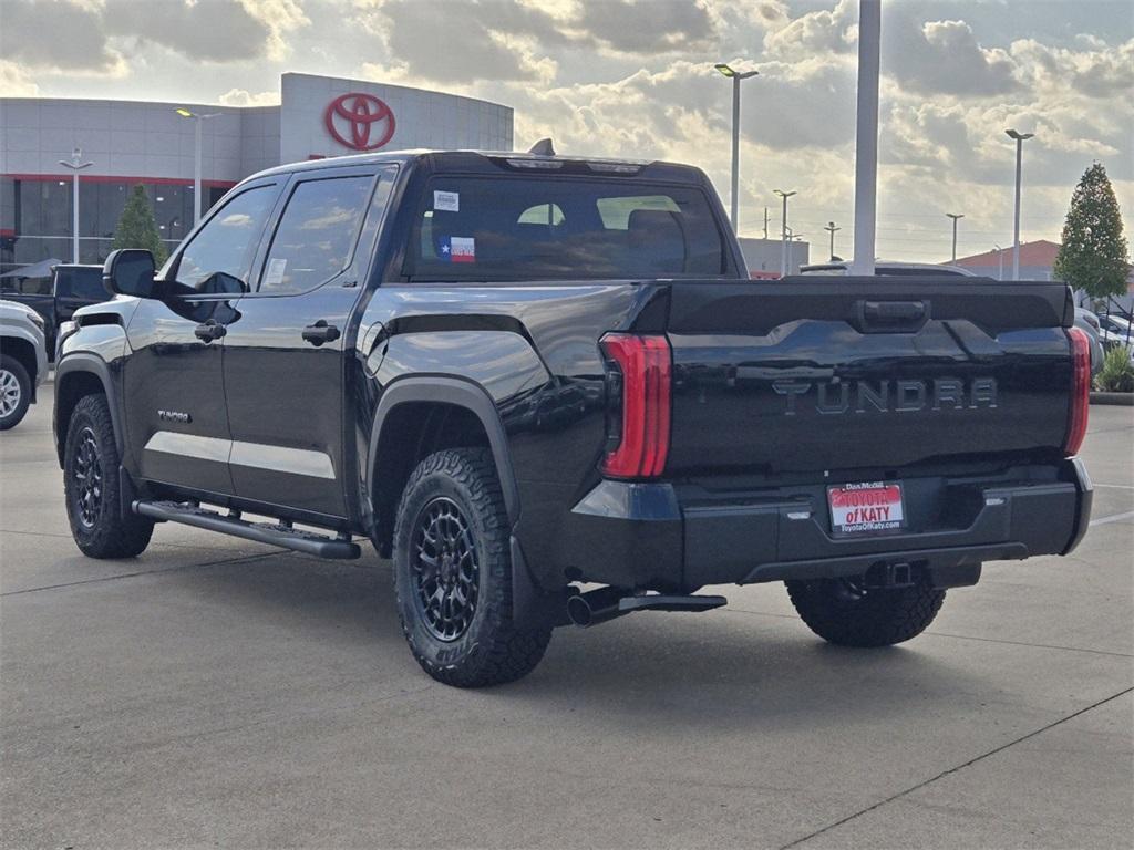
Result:
M346 269L373 182L366 175L296 186L272 238L260 291L305 292Z

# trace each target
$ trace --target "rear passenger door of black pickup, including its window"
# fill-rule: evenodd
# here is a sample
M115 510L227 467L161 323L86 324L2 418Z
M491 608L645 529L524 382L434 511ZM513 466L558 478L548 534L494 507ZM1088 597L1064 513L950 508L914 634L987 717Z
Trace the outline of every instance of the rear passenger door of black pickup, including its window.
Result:
M392 167L299 172L225 339L238 496L342 517L344 351Z

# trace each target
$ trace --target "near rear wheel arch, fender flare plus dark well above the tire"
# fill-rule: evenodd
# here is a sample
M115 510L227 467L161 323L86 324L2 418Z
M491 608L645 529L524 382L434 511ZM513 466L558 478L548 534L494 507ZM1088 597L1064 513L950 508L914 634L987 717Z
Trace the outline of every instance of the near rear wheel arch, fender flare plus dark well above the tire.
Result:
M488 391L473 381L443 376L404 377L384 390L371 426L366 467L366 493L374 511L371 534L380 552L388 552L392 511L413 468L433 451L469 444L491 450L508 522L515 526L519 487L508 436Z

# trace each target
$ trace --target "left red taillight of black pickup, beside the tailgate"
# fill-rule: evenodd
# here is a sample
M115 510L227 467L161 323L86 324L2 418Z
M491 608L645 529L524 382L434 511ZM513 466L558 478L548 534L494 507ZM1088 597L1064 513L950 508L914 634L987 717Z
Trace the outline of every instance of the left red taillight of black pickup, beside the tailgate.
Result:
M608 333L599 345L618 365L623 384L618 444L607 452L602 471L615 478L661 475L669 454L669 341Z

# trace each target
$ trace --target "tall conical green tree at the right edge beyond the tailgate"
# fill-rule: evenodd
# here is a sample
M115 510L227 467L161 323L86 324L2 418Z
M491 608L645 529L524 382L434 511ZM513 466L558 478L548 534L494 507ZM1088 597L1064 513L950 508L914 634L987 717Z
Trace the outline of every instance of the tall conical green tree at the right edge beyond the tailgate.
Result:
M1052 270L1072 289L1101 299L1126 292L1128 250L1107 170L1095 162L1070 197L1063 245Z

